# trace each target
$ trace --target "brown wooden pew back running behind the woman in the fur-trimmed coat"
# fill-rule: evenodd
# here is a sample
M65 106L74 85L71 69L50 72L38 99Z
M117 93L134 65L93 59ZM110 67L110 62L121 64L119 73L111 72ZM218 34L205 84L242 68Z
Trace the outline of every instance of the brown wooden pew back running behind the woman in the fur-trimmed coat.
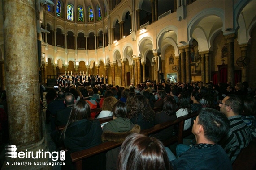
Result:
M144 135L149 135L149 134L152 134L152 133L159 132L159 131L161 131L165 128L168 128L170 126L173 126L175 124L178 124L178 126L179 126L178 134L173 136L173 137L170 137L170 139L168 139L167 141L164 141L163 143L164 143L165 146L170 145L170 144L175 143L175 142L178 142L178 144L181 144L183 142L182 136L183 136L183 129L184 129L185 120L190 119L192 117L195 117L197 115L198 115L198 113L194 112L194 113L191 113L189 115L181 116L181 117L177 118L174 121L168 121L168 122L165 122L165 123L162 123L162 124L156 124L152 128L142 130L141 133L144 134ZM121 146L121 145L122 145L122 142L118 143L118 142L106 141L106 142L104 142L100 145L97 145L95 147L71 153L70 156L71 156L72 162L75 162L76 169L77 170L82 170L82 159L88 158L88 157L93 156L97 153L102 153L104 151L116 148L116 147Z

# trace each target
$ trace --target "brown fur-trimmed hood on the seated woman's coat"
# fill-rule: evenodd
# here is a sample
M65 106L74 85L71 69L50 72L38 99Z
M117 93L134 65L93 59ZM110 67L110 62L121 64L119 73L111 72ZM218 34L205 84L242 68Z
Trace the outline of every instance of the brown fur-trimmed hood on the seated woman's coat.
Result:
M123 142L125 138L131 133L139 133L140 126L135 124L135 126L128 132L111 132L106 131L101 135L101 141L114 141L114 142Z

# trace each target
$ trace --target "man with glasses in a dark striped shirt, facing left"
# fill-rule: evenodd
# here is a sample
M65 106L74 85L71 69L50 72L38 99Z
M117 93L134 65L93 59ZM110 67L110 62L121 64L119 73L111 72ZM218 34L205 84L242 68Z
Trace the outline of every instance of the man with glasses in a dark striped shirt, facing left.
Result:
M220 111L230 120L230 130L220 141L220 145L228 154L232 163L241 149L247 147L252 140L252 133L241 119L243 100L237 95L228 95L219 103Z

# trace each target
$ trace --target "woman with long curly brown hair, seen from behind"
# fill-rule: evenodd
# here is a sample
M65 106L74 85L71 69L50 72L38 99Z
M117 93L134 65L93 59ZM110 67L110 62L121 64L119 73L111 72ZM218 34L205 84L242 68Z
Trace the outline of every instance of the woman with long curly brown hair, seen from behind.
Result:
M143 95L136 95L134 97L133 106L128 118L134 124L138 124L142 130L155 125L155 112L150 107L147 98Z

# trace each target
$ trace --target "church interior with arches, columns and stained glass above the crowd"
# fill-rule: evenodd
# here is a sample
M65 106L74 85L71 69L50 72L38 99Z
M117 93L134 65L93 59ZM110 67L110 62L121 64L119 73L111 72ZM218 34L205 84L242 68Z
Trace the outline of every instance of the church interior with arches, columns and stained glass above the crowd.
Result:
M39 84L59 75L99 74L124 87L247 81L254 90L255 7L256 0L1 0L0 90L11 145L47 147Z

